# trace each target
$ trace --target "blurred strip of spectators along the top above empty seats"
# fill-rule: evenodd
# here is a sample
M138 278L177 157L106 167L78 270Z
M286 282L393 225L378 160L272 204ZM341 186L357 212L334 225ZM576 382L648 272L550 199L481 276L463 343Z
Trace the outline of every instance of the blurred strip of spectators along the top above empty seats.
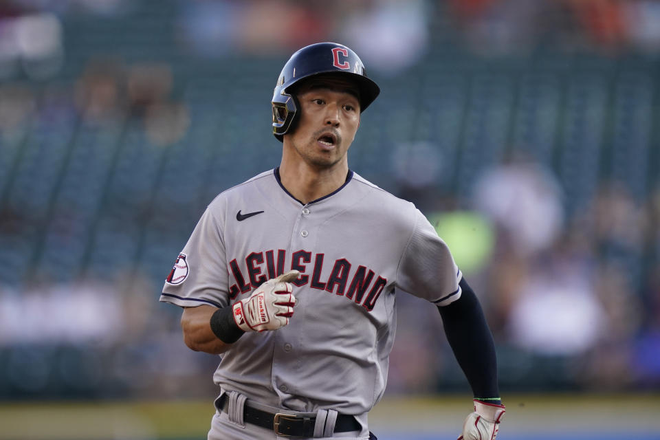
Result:
M414 65L445 38L487 57L539 48L654 54L660 47L654 0L5 0L0 77L21 69L55 76L63 66L63 21L131 17L145 4L155 17L173 15L177 50L206 58L286 54L329 36L369 53L381 72Z

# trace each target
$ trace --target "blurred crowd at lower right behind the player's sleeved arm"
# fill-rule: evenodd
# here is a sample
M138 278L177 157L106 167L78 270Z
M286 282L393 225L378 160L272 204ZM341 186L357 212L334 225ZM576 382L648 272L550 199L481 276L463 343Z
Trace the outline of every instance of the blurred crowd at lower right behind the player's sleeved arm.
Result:
M545 380L555 390L657 389L660 188L640 200L624 182L603 181L593 199L572 213L561 188L551 170L518 157L479 176L469 201L445 200L448 211L432 217L481 298L503 362L504 388L529 390L527 380L536 377L532 388ZM456 208L473 217L459 230L445 221ZM461 265L465 245L478 250L478 261L473 253ZM403 347L395 350L394 364L407 377L407 360L434 358L428 347L437 347L441 326L430 311L419 319L423 305L417 301L403 305ZM427 327L415 331L410 322ZM435 372L451 362L446 344L437 353L440 359L428 361ZM545 365L556 369L554 377L547 377ZM425 373L401 380L400 391L409 382L418 384L417 391L443 382Z

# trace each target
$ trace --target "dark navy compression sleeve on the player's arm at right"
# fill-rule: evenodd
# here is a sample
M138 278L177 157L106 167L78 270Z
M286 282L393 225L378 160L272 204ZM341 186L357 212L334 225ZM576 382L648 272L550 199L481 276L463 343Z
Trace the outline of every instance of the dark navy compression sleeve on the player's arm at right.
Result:
M497 386L495 344L474 291L461 278L461 298L438 307L454 356L459 362L476 399L493 401ZM497 403L497 402L494 402Z

